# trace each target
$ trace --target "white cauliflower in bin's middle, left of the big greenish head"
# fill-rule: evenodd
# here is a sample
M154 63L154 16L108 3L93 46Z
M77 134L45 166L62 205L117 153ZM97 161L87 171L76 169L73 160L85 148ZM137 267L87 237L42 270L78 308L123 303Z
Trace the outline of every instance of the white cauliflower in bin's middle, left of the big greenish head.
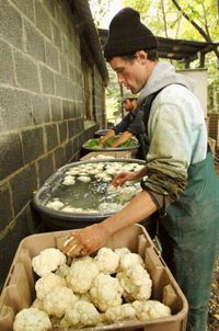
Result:
M91 300L101 311L122 305L123 287L117 278L100 273L92 283Z

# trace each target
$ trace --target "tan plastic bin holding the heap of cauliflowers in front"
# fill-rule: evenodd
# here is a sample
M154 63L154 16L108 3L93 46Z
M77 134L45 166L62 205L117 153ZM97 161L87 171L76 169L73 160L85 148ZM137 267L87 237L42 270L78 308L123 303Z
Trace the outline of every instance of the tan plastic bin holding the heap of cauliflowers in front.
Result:
M21 241L0 296L1 331L12 331L14 316L21 309L30 307L35 298L35 275L31 264L32 258L37 255L43 249L49 247L60 248L60 243L68 235L69 230L39 233L28 236ZM172 316L95 328L72 328L69 330L185 331L188 310L187 301L143 227L140 225L127 227L112 236L106 246L112 249L127 247L143 258L146 269L150 273L153 283L151 299L157 299L168 305L172 310ZM61 329L56 328L54 330L58 331Z

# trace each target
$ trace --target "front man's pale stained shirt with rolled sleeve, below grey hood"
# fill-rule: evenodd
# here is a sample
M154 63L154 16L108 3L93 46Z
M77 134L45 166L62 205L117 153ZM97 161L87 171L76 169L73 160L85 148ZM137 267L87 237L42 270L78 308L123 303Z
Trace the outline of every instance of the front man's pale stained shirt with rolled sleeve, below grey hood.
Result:
M189 91L184 93L186 101L175 101L166 92L160 94L149 116L148 176L141 187L160 209L166 209L185 190L189 164L205 158L207 139L203 114L197 112Z

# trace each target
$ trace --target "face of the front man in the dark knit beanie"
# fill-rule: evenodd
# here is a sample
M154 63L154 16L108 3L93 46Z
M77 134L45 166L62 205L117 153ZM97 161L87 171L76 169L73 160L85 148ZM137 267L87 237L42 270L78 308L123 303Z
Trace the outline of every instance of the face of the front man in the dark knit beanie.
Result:
M111 59L110 65L116 72L118 82L124 84L131 93L138 93L147 81L146 61L140 61L138 58L124 59L116 56Z

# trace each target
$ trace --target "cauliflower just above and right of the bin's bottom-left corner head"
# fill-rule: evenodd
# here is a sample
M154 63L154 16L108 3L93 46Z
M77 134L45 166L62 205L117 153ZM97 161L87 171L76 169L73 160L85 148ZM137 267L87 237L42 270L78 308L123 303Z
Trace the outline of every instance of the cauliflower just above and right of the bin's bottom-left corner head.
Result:
M73 292L65 286L55 286L44 297L44 310L48 315L62 317L66 309L78 300Z

